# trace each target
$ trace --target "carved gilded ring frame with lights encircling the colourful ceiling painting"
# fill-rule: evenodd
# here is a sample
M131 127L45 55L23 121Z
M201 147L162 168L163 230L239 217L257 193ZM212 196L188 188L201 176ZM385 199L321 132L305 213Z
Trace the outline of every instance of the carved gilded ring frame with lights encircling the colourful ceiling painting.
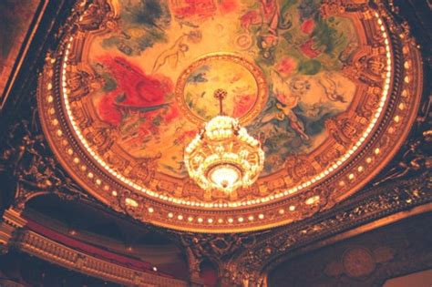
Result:
M282 173L238 190L242 200L211 199L190 179L157 175L152 165L158 155L132 160L116 144L118 133L99 124L89 102L78 100L101 85L82 56L88 39L116 29L113 3L77 4L72 28L46 57L38 108L47 141L67 172L95 198L138 220L203 232L257 231L302 220L365 186L396 154L416 118L422 67L406 28L382 5L324 1L324 17L350 17L358 28L362 47L345 60L344 73L364 97L355 110L326 122L330 139L318 154L285 159Z

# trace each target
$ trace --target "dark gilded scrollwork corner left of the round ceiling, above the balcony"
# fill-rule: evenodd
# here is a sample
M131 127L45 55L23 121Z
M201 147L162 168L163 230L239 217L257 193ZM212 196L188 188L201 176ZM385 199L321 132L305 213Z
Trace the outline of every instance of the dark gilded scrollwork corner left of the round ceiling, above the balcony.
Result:
M0 172L9 173L16 181L14 207L23 210L26 202L39 195L56 194L64 200L89 197L74 180L61 169L47 148L45 137L38 132L36 109L30 123L26 119L10 128L6 149L0 161Z

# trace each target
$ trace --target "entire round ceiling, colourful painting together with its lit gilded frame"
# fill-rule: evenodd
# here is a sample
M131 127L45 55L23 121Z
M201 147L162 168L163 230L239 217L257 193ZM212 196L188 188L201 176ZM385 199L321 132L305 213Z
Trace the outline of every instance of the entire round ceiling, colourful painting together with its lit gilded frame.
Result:
M81 1L41 77L46 135L90 193L140 220L247 231L303 219L361 188L413 122L417 50L391 39L401 28L380 9L358 0ZM219 88L223 112L265 152L257 182L230 194L201 190L183 163L220 113Z

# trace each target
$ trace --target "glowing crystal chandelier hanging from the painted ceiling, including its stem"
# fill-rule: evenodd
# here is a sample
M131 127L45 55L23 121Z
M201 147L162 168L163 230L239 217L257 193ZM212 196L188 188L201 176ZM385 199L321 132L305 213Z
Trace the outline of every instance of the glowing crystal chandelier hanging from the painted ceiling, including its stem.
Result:
M222 100L227 96L217 89L220 115L211 118L185 149L184 162L190 178L203 190L230 193L247 188L258 179L264 163L261 143L242 128L237 118L223 115Z

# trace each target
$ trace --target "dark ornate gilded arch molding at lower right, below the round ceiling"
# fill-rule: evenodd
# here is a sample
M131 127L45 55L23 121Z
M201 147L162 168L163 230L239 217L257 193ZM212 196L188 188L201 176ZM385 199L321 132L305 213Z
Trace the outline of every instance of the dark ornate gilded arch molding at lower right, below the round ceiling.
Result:
M229 270L238 283L247 281L253 283L246 286L262 286L266 273L284 260L284 254L399 210L431 202L431 190L432 177L428 171L417 178L367 190L329 214L275 231L252 248L237 253L228 264Z

